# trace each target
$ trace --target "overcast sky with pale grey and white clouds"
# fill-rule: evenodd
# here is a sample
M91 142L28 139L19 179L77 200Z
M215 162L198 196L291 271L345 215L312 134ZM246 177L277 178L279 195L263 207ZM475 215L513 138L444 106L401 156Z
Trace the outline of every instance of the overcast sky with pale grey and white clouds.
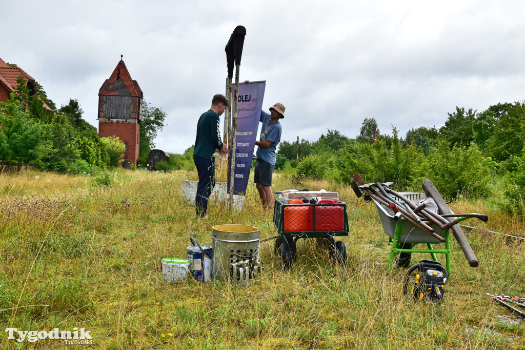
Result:
M167 112L156 148L182 153L225 91L224 47L246 27L240 79L286 107L281 140L355 137L364 118L404 136L456 106L522 100L523 1L4 1L0 58L57 106L98 127L98 90L124 55L144 99ZM222 130L222 125L221 125Z

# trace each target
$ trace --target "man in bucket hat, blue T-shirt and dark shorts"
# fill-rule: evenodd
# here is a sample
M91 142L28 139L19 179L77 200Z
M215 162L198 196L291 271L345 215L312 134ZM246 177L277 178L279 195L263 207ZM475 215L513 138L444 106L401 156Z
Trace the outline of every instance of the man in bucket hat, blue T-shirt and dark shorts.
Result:
M257 163L255 164L254 182L259 191L262 207L272 209L274 207L274 193L271 190L271 177L275 167L275 152L281 141L281 123L279 119L284 118L285 106L275 104L270 108L270 114L261 111L259 118L262 123L259 141L255 141L257 149Z

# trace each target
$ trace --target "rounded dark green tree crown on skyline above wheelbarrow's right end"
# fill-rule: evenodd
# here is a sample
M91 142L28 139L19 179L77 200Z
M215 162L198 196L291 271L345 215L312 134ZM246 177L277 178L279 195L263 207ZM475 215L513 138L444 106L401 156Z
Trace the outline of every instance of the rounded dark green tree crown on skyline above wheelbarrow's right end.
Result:
M474 140L474 130L472 127L476 121L476 111L470 108L456 107L454 113L448 113L445 126L439 128L440 135L443 135L450 143L450 147L469 147Z

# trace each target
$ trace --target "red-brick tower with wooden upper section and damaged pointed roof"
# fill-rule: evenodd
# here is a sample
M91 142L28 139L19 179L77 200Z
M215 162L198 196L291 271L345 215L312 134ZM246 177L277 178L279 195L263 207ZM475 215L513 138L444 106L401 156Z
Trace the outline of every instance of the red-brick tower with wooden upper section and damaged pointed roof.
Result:
M99 90L99 137L118 136L126 146L122 167L137 164L144 95L132 80L122 55L113 73Z

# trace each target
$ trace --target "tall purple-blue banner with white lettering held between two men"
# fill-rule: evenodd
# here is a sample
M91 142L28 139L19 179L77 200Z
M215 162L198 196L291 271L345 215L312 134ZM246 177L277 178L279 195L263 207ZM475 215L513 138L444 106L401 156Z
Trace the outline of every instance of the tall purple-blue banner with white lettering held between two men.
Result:
M239 84L239 94L237 98L237 145L235 148L235 177L233 182L234 194L244 195L248 187L251 160L254 155L265 87L266 81ZM234 89L235 85L232 86L232 90ZM235 94L232 94L232 96L235 96ZM233 135L230 137L230 149L232 149L232 139ZM231 172L228 171L228 193L230 189L230 173Z

